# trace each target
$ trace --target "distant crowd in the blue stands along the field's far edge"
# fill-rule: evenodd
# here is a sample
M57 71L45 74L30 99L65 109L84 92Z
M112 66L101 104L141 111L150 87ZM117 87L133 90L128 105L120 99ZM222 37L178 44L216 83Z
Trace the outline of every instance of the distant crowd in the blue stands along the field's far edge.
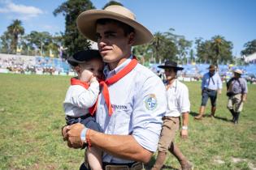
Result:
M184 81L199 81L202 75L207 72L209 64L187 64L183 65L184 70L180 71L178 78ZM248 83L256 84L256 65L231 66L219 65L218 71L223 82L227 82L232 77L232 70L239 68L243 70L243 77ZM158 68L158 64L150 64L150 69L163 79L163 70ZM31 57L0 54L0 72L20 73L20 74L61 74L73 75L74 71L63 58L56 57Z

